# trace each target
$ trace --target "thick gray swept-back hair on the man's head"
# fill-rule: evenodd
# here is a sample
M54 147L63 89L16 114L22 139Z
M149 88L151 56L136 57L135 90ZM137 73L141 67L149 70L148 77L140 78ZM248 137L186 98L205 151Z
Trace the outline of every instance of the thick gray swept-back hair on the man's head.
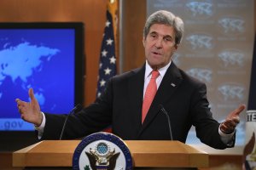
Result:
M149 29L154 24L163 24L166 26L172 26L175 31L175 43L179 44L183 38L184 23L181 18L175 16L169 11L159 10L154 12L148 17L143 30L143 37L148 36Z

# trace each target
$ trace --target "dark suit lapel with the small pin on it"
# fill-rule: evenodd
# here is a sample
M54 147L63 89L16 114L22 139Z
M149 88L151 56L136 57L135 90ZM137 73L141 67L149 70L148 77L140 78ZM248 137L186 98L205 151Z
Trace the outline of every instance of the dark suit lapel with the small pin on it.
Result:
M160 105L163 105L166 100L172 96L172 93L177 89L181 82L181 74L178 71L177 66L172 62L172 64L167 69L162 82L160 83L160 87L154 96L154 100L149 108L148 114L138 135L143 133L143 130L150 124L150 122L154 120L154 117L160 111Z

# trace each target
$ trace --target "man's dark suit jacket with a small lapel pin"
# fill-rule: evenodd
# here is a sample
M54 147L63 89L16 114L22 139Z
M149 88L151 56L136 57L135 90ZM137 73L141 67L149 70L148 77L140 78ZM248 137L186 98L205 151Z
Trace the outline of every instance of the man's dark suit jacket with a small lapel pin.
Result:
M202 143L218 149L227 147L218 134L219 123L212 118L208 107L206 85L189 77L173 62L142 124L144 73L145 65L113 77L101 98L69 116L64 138L83 137L112 125L113 133L121 139L168 140L167 118L160 111L160 105L163 105L171 119L174 140L185 143L189 129L194 125L196 136ZM65 117L46 114L43 139L58 139Z

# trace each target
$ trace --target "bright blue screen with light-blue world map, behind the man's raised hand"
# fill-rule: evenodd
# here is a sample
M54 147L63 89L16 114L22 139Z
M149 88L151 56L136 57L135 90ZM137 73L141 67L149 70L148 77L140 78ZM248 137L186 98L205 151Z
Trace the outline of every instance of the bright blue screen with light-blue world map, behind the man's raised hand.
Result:
M15 102L29 102L29 88L45 113L73 108L74 40L72 29L0 29L0 131L33 130Z

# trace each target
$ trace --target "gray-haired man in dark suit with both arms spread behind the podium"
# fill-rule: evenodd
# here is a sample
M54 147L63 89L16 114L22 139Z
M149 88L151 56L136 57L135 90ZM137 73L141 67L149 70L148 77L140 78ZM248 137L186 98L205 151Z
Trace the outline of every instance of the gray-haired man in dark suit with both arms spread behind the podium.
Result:
M146 63L113 77L100 98L69 116L64 138L84 137L111 125L121 139L170 139L164 108L172 122L173 140L185 143L193 125L201 142L218 149L234 146L236 125L245 105L221 124L212 118L206 85L172 62L182 37L183 20L163 10L151 14L143 31ZM29 96L31 102L16 99L21 118L32 122L42 139L59 139L67 115L42 113L32 88Z

